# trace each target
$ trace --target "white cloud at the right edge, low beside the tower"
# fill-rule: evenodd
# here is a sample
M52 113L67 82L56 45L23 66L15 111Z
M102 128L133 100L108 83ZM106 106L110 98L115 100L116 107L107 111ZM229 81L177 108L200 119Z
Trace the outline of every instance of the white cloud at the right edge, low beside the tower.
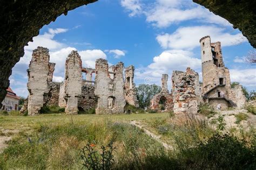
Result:
M256 88L256 69L230 69L230 79L250 89Z

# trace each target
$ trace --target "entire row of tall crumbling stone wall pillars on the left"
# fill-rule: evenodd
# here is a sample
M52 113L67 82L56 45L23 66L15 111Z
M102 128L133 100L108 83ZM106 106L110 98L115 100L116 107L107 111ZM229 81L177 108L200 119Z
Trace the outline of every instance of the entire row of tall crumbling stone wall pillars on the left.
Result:
M124 112L126 102L138 107L133 66L126 68L124 81L122 62L109 67L107 60L98 59L96 69L84 68L77 51L72 51L66 59L64 82L57 83L52 81L55 63L49 59L47 48L33 51L28 69L28 105L24 104L21 114L25 110L29 115L39 114L45 105L59 105L67 114L90 109L96 109L96 114L119 114ZM82 73L86 74L85 80Z

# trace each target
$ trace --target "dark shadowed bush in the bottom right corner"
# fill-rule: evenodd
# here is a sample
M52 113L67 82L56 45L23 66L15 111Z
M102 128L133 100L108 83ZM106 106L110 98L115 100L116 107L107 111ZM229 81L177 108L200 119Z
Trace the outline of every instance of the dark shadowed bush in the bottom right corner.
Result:
M256 147L230 134L215 134L197 147L181 150L178 159L184 169L255 169Z

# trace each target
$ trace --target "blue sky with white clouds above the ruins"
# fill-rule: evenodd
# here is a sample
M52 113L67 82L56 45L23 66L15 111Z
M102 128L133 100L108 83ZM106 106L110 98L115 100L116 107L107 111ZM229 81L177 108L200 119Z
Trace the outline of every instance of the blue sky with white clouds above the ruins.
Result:
M69 11L45 25L24 48L10 86L17 95L28 95L26 69L32 50L43 46L50 50L50 61L56 62L53 80L58 82L64 77L66 57L77 50L84 67L95 67L98 58L110 64L123 61L135 66L137 85L145 79L160 84L161 74L167 73L170 88L173 70L190 66L201 74L199 39L207 35L212 42L221 41L231 81L255 90L255 65L244 60L253 49L247 39L227 20L188 0L99 0Z

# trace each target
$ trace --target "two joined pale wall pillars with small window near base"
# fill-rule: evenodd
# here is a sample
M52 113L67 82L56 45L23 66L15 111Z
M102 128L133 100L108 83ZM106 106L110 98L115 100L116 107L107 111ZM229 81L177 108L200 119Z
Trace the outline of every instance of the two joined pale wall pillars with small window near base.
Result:
M95 95L97 96L96 114L122 114L125 107L124 64L112 67L113 79L109 74L107 60L96 60Z

